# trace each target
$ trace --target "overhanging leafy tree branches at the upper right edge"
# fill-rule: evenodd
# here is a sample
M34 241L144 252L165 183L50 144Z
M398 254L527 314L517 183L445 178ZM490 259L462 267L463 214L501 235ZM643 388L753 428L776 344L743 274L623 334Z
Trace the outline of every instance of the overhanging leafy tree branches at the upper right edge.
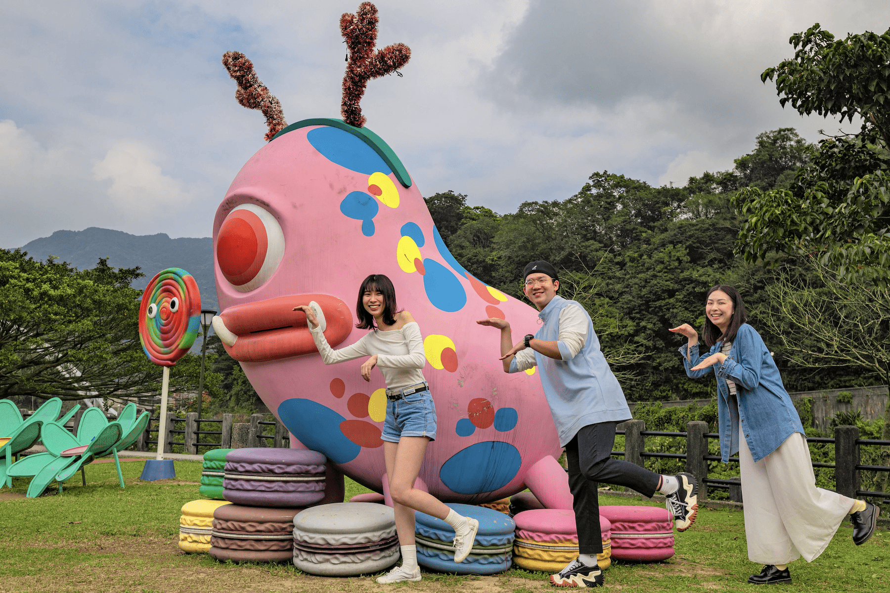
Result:
M862 117L862 130L821 140L813 162L788 189L744 188L735 204L748 219L738 251L748 261L770 253L818 253L845 281L890 280L890 31L835 41L819 24L791 36L793 60L767 68L780 103L802 115ZM798 49L799 48L799 49Z

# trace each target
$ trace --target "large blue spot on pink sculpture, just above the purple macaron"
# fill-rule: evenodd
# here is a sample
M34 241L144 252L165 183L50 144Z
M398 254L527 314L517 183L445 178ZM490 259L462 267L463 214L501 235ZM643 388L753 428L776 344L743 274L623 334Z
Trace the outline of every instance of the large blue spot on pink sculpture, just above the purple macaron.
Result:
M361 447L346 438L340 423L346 420L328 406L311 399L292 398L281 402L279 418L307 449L318 451L335 463L348 463Z

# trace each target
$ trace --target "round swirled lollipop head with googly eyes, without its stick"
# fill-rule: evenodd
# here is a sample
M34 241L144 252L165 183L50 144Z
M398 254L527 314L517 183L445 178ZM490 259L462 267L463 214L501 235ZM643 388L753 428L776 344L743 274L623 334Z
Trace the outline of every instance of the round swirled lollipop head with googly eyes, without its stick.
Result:
M173 366L195 343L201 314L198 284L182 268L166 268L142 292L139 340L155 365Z

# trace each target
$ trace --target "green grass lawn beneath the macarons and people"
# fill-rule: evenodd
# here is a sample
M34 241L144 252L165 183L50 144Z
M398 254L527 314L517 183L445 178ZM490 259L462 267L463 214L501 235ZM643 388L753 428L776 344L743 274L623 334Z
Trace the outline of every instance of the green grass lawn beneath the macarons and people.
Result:
M0 490L0 592L6 591L381 591L368 577L314 577L287 565L220 564L206 554L177 547L182 504L197 498L201 464L176 461L176 479L141 482L142 461L121 463L126 489L113 463L87 466L87 485L69 480L64 492L37 499L8 499ZM27 479L15 479L24 493ZM347 480L347 500L367 492ZM601 496L601 504L643 504L643 499ZM848 525L848 524L847 524ZM890 590L890 533L882 531L856 547L843 526L812 564L790 566L795 582L782 590ZM645 591L748 591L745 581L760 566L748 562L744 518L732 510L702 509L686 533L676 533L676 556L651 565L614 562L606 571L610 589ZM396 587L422 590L510 591L550 589L544 573L510 570L492 577L425 574L424 581Z

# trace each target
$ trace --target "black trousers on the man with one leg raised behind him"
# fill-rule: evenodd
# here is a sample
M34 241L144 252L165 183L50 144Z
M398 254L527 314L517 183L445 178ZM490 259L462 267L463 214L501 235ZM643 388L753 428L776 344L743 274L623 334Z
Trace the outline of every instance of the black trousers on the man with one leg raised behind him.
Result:
M578 528L578 552L581 554L603 551L598 483L627 486L649 497L659 487L659 474L611 458L615 425L616 422L588 424L565 445L569 488L574 497L572 508Z

